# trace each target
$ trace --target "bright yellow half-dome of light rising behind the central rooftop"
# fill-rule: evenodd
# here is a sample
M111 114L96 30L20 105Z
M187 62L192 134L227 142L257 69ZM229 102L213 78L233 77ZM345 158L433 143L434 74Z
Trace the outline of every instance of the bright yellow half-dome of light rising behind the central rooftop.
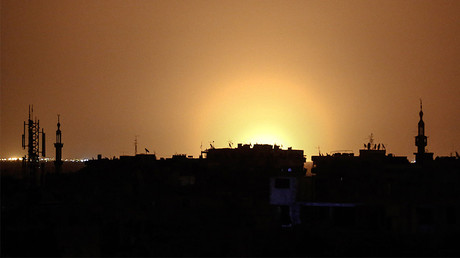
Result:
M203 141L215 141L216 147L232 141L312 149L313 138L321 133L318 125L331 123L329 109L320 105L308 85L287 76L250 78L216 87L206 97L194 119Z

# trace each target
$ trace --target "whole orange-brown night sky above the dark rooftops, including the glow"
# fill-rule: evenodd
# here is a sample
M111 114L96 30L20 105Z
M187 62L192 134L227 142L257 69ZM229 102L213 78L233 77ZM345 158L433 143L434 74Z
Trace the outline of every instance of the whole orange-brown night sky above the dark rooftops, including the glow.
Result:
M373 133L413 159L460 152L460 1L1 1L0 157L28 105L54 156L214 141L355 153Z

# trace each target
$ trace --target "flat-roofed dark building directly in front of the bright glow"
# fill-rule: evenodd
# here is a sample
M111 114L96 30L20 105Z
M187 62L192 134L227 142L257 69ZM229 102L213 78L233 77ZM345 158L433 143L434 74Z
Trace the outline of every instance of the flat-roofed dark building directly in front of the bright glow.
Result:
M240 181L234 185L235 192L258 195L257 200L274 208L272 216L281 225L298 224L296 199L300 178L306 173L303 150L283 150L269 144L238 144L237 148L211 148L204 154L216 172L228 170L229 175Z

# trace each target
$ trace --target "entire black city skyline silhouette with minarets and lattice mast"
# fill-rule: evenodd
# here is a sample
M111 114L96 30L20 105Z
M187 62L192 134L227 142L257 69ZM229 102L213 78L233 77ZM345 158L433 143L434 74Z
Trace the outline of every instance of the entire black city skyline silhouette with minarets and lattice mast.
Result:
M66 167L59 116L49 164L31 114L27 156L2 166L2 256L460 255L460 158L426 152L422 103L415 163L371 134L310 169L303 150L241 143Z

